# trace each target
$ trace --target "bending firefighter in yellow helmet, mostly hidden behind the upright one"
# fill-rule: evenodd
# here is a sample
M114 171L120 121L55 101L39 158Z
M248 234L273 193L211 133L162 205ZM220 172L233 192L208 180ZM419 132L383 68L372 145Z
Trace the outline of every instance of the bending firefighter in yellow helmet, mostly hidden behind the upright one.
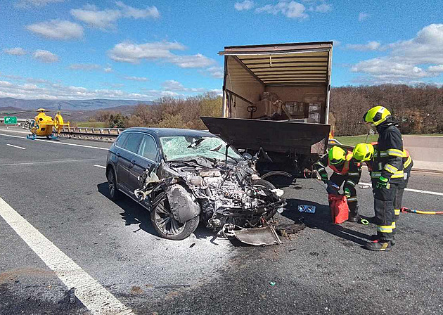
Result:
M377 155L378 143L359 143L355 146L354 151L352 151L352 155L354 159L361 163L366 163L368 166L368 171L370 174L373 172L373 157ZM403 181L398 185L397 191L395 193L394 199L394 221L397 222L400 216L400 210L402 209L402 199L403 193L406 186L408 186L409 178L411 177L411 169L413 167L413 160L411 155L407 150L403 150L403 172L404 177ZM391 245L395 243L395 228L392 229L392 240ZM377 236L373 236L373 239L376 240Z

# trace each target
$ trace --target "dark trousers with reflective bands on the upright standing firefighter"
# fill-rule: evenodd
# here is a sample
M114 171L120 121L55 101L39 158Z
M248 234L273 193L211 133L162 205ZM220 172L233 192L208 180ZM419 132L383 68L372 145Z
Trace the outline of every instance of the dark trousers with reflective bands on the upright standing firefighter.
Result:
M399 184L390 183L386 188L377 188L377 182L378 179L372 182L377 236L382 241L392 240L396 228L394 203Z

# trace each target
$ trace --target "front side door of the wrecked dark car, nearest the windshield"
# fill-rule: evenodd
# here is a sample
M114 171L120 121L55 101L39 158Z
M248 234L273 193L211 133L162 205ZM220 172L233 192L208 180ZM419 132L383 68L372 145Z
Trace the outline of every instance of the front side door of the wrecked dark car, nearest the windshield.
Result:
M150 134L143 134L134 167L129 171L129 186L134 192L140 188L139 176L155 162L158 162L158 145Z

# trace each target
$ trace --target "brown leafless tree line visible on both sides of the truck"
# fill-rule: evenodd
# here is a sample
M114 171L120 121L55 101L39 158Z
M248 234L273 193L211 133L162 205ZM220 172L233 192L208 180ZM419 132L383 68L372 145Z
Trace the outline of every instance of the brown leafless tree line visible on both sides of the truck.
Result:
M94 120L108 127L168 127L206 129L200 116L221 116L221 96L214 93L188 98L164 97L152 105L140 104L131 115L101 110ZM330 91L329 123L336 136L366 134L363 115L383 105L399 122L404 134L443 133L443 87L418 84L342 86Z

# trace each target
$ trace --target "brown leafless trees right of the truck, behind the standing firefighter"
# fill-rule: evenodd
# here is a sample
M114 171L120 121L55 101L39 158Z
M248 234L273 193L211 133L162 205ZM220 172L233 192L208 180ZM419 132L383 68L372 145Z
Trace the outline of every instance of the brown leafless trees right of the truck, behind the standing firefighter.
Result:
M375 105L391 111L403 134L443 133L443 86L383 84L331 89L329 123L335 135L365 134L363 115Z

